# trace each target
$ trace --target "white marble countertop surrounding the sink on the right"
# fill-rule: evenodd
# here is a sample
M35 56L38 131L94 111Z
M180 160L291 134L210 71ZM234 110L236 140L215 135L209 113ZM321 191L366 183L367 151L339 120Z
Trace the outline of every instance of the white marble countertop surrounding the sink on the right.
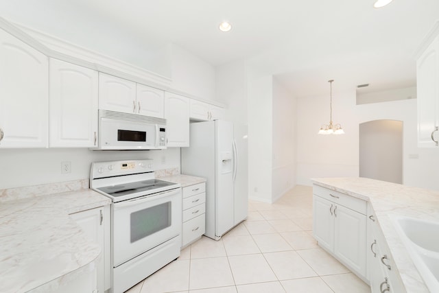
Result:
M407 292L429 292L396 232L391 217L403 215L439 222L439 191L368 178L313 178L312 182L369 201L405 289Z

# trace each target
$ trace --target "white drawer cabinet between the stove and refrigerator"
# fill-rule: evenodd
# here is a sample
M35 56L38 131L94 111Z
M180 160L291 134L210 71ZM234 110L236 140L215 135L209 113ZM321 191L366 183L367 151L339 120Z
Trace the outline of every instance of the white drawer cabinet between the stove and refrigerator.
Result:
M182 189L182 247L200 238L206 227L206 183Z

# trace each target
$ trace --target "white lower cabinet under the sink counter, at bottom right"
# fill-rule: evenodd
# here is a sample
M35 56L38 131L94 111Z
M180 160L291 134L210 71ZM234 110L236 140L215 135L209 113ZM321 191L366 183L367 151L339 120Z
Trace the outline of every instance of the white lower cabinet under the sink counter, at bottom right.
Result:
M377 224L375 213L368 204L368 280L372 293L404 293L401 276L396 272L390 249Z

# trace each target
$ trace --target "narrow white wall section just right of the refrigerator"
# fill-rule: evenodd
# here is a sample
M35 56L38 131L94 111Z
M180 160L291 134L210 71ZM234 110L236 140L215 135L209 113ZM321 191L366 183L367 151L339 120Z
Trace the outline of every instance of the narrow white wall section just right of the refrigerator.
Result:
M248 197L272 202L272 75L248 79Z

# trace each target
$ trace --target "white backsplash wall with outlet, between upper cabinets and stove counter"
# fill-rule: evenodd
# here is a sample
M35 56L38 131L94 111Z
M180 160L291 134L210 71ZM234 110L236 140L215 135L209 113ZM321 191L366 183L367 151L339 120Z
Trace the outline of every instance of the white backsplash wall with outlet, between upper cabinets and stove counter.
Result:
M94 161L153 159L155 169L180 168L180 148L149 151L91 151L84 148L0 150L0 189L89 178ZM71 173L61 174L61 162Z

